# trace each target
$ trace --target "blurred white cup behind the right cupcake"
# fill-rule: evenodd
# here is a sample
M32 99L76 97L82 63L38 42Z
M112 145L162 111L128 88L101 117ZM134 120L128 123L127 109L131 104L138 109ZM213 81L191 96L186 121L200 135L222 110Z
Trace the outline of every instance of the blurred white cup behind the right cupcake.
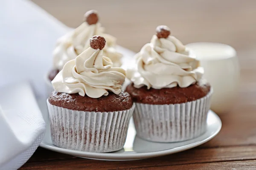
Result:
M227 113L238 94L240 67L236 50L230 45L215 42L195 42L186 45L204 67L204 78L213 87L211 109Z

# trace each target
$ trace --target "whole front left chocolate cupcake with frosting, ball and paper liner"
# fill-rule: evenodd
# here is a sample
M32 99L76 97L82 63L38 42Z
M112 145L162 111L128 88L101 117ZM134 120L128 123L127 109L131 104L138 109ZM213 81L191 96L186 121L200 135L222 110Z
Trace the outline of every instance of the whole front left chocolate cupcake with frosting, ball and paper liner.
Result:
M121 90L125 70L103 56L105 39L93 36L90 47L68 61L52 80L47 99L52 142L88 152L122 149L135 105Z

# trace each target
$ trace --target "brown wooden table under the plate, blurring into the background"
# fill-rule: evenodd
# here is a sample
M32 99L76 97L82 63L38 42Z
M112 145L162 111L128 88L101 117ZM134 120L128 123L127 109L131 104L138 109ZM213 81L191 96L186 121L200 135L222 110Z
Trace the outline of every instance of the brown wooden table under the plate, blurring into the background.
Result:
M184 44L222 42L236 48L241 66L239 97L222 114L221 132L209 142L173 155L137 161L96 161L38 148L21 170L256 169L256 0L33 0L68 26L96 9L107 32L133 51L169 26Z

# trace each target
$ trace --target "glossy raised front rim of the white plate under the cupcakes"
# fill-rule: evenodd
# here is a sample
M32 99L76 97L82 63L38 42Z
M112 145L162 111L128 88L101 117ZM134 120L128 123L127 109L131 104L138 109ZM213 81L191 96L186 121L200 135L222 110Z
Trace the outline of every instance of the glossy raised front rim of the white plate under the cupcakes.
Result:
M213 114L213 116L215 116L215 118L217 119L217 122L219 124L218 128L215 130L214 133L212 133L210 136L208 136L207 138L205 138L201 141L194 142L194 143L187 144L187 145L180 146L180 147L167 149L167 150L160 150L160 151L146 152L146 153L134 153L134 151L131 151L131 153L123 154L123 153L92 153L92 152L84 152L84 151L78 151L78 150L69 150L69 149L60 148L60 147L54 146L49 143L44 143L44 142L41 142L41 144L39 144L39 146L43 147L45 149L48 149L48 150L55 151L55 152L64 153L64 154L68 154L68 155L72 155L72 156L84 157L87 159L91 158L91 159L104 159L104 160L111 160L111 159L112 160L113 159L114 160L128 160L128 159L134 160L134 159L147 159L147 158L152 158L152 157L157 157L157 156L164 156L164 155L169 155L169 154L178 153L178 152L181 152L184 150L188 150L193 147L197 147L201 144L208 142L212 138L214 138L220 132L221 127L222 127L222 122L221 122L221 119L219 118L219 116L215 112L209 110L208 114ZM201 136L198 136L197 138L200 138L200 137Z

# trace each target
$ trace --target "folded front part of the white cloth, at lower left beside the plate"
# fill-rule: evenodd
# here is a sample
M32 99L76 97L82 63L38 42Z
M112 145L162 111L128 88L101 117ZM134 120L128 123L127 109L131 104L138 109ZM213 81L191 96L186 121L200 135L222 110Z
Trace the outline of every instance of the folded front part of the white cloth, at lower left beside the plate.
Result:
M0 89L0 170L16 170L35 152L45 122L28 82Z

